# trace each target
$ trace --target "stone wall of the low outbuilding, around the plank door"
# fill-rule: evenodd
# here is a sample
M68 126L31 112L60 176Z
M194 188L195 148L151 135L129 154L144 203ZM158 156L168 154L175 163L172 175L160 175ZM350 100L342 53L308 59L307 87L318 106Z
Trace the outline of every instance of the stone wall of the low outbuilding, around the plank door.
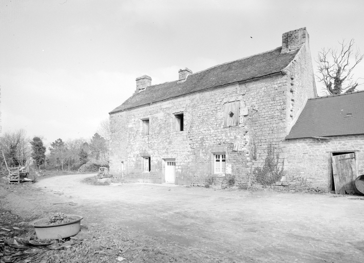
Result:
M286 180L291 187L300 184L330 191L332 189L332 153L354 152L358 175L364 174L364 135L334 136L329 140L291 139L286 146ZM301 185L302 186L302 185Z

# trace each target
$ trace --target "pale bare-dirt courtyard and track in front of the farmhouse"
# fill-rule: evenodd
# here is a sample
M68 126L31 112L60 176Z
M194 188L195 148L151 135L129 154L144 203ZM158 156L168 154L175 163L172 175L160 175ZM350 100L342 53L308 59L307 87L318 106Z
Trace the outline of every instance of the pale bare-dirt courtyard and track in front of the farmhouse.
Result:
M27 200L2 198L20 215L80 214L86 226L118 224L226 262L364 262L360 196L81 183L90 176L45 178Z

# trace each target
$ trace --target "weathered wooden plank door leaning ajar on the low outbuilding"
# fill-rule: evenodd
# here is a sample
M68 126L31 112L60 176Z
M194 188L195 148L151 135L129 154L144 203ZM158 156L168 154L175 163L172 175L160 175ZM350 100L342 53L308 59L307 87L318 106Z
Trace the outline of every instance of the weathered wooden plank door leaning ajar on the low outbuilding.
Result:
M335 184L335 194L355 194L353 182L356 179L355 156L351 154L332 157L332 173Z

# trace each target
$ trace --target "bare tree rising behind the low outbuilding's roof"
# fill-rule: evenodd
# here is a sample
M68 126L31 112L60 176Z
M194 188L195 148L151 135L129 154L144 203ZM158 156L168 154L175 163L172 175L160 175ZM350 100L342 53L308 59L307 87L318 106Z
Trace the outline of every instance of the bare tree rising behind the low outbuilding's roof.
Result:
M322 88L330 95L354 92L358 85L358 79L354 80L353 69L360 63L364 55L360 51L353 50L354 40L349 43L345 40L339 42L340 48L325 48L318 52L318 75L316 77L325 86Z

